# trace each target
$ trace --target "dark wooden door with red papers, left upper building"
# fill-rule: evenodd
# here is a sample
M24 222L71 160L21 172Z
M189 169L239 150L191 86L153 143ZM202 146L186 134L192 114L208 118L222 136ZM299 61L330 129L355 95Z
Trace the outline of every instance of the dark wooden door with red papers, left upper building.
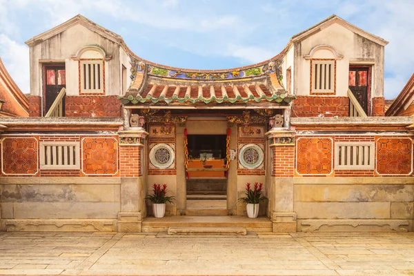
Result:
M64 64L44 66L43 115L46 115L62 88L66 88L66 70ZM63 98L64 101L64 98ZM63 102L63 108L65 104ZM64 112L64 110L63 110Z

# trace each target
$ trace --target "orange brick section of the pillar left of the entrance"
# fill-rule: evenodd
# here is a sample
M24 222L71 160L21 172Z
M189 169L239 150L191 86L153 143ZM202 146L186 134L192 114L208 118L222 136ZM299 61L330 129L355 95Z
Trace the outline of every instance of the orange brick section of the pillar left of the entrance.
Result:
M119 147L119 170L121 177L140 177L141 173L141 147Z

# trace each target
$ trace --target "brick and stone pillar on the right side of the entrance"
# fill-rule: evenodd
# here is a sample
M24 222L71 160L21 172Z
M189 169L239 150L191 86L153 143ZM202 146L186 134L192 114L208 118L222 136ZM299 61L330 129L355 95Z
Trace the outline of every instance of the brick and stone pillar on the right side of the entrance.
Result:
M296 232L296 213L293 211L295 131L273 128L266 135L272 158L269 216L273 232Z

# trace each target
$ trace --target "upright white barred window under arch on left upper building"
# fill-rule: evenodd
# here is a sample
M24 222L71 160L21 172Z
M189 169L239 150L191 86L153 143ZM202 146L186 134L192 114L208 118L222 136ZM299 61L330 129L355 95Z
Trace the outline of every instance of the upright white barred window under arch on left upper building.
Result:
M103 76L105 68L103 59L81 59L80 77L81 93L101 93L103 89Z

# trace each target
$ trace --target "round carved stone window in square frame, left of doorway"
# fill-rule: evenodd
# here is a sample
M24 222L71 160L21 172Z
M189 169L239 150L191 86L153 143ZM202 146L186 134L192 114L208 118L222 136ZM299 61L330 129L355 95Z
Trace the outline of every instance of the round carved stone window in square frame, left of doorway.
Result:
M175 168L175 144L150 144L149 168Z

